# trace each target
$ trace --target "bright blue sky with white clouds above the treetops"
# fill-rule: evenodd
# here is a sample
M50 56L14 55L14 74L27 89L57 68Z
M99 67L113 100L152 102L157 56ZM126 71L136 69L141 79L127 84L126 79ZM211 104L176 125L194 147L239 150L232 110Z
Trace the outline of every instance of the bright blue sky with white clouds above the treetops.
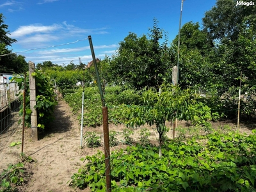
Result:
M182 25L202 22L215 0L186 0ZM96 58L111 56L129 32L149 33L153 19L172 42L179 31L181 0L1 0L0 13L17 42L10 49L35 64L52 61L67 65L92 60L88 35ZM79 40L78 42L76 42ZM67 44L76 42L73 44ZM65 45L61 45L65 44ZM54 45L61 45L50 47ZM47 49L42 49L49 47ZM27 51L29 49L36 49ZM26 51L26 52L24 52Z

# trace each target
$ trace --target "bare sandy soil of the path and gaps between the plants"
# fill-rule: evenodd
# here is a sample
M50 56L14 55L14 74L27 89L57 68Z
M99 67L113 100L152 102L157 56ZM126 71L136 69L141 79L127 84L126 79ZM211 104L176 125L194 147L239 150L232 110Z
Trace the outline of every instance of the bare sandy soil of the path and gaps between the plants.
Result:
M95 154L98 150L102 152L103 147L88 148L80 147L80 125L77 116L73 115L70 107L63 100L59 100L58 106L54 111L55 120L51 124L51 132L44 134L39 141L31 140L31 130L26 129L24 138L24 154L31 156L35 163L27 163L26 168L29 172L28 183L19 186L19 191L75 191L68 186L70 177L73 173L83 165L80 161L81 157ZM225 124L235 126L234 122L218 122L214 127L219 127ZM179 125L186 127L186 122L179 122ZM109 130L116 132L122 131L124 125L109 125ZM157 143L157 133L154 127L150 128L152 143ZM251 129L255 129L255 124L248 127L241 125L241 132L251 133ZM138 141L140 129L134 130L135 141ZM85 131L95 131L102 134L102 127L84 128ZM84 134L83 132L83 134ZM22 126L17 122L9 129L6 134L0 136L0 173L6 169L8 164L17 163L20 161L21 145L10 147L10 143L21 141ZM168 132L168 138L172 138L172 131ZM122 137L120 144L111 148L111 151L118 148L125 148L122 145ZM76 189L79 191L79 189ZM85 189L84 191L90 191Z

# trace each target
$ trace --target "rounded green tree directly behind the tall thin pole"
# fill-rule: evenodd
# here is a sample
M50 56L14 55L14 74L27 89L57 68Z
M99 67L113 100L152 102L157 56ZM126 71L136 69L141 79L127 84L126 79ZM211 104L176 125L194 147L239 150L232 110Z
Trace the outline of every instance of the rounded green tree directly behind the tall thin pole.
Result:
M173 65L177 63L178 35L172 42L170 49L175 55ZM207 32L202 31L198 22L188 22L180 29L180 61L179 85L205 87L214 79L209 55L212 52L212 41ZM172 71L166 77L172 81Z

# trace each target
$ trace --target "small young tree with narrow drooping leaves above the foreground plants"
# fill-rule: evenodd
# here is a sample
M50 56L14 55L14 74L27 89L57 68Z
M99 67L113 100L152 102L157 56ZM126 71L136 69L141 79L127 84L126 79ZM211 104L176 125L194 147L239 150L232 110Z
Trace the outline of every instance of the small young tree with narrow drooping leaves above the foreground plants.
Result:
M140 127L149 124L156 125L159 134L159 156L161 157L161 145L163 136L168 131L166 121L190 120L193 116L193 104L196 103L195 93L189 90L180 90L177 86L161 86L161 92L150 89L140 96L140 104L124 106L124 115L127 118L127 126ZM189 111L190 109L190 111Z

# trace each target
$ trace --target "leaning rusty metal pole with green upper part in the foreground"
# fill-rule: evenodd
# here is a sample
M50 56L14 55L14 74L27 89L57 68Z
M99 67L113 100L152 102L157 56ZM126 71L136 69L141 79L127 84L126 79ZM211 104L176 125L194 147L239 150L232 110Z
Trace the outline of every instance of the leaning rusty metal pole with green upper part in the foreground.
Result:
M103 97L102 87L100 84L100 76L97 68L95 54L93 51L92 37L89 35L88 40L92 52L93 63L97 76L100 98L102 102L102 115L103 115L103 134L104 134L104 152L105 152L105 168L106 168L106 191L111 192L111 172L110 172L110 150L109 150L109 129L108 129L108 108L105 106L105 100Z

